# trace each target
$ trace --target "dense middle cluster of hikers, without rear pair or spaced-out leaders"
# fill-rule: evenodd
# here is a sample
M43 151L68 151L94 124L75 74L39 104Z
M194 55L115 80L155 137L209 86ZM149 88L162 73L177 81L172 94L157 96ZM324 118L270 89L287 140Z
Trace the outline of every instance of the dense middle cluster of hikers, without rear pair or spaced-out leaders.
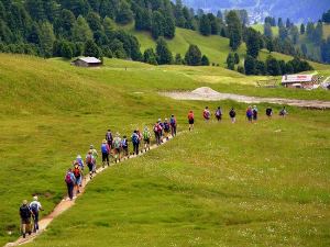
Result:
M177 122L172 114L170 120L167 119L162 122L162 119L158 119L156 121L155 125L153 126L153 132L155 135L155 142L156 145L161 145L165 139L168 139L169 133L174 137L177 134ZM133 145L133 154L132 155L139 155L140 153L150 150L151 148L151 139L152 134L148 127L145 127L143 132L140 132L140 130L133 131L133 134L131 135L130 141L128 139L128 136L124 135L122 138L120 137L120 133L117 132L114 135L111 132L110 128L108 128L105 139L102 141L102 144L100 146L100 154L102 156L102 168L108 165L110 166L110 160L114 160L114 162L119 162L123 159L129 159L131 156L129 146L130 142ZM76 195L80 193L80 187L82 177L84 177L84 167L85 164L89 168L89 178L92 179L94 173L97 172L97 158L98 158L98 151L94 147L94 145L90 145L90 148L88 150L88 154L85 157L85 162L80 155L77 156L77 159L74 161L73 167L68 169L68 172L65 175L65 182L67 186L67 192L68 198L70 200L74 199L74 191L76 191Z

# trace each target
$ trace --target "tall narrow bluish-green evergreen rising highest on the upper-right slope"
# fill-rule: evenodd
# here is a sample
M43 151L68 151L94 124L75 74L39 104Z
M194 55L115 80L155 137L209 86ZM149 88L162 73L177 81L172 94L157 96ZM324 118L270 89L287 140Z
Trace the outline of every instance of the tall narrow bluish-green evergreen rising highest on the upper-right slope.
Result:
M228 15L226 16L226 23L228 25L230 47L232 50L237 50L242 41L242 24L235 11L231 10L228 12Z

